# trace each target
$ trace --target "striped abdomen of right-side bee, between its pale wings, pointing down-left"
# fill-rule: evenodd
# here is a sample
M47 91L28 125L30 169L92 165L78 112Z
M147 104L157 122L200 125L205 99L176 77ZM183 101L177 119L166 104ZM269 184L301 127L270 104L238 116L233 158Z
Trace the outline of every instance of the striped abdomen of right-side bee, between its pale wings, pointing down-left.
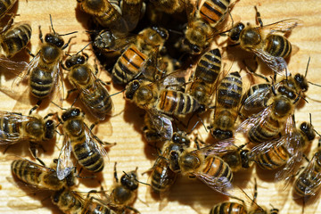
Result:
M283 125L281 125L278 121L268 116L257 126L250 128L248 132L248 138L251 143L267 142L278 135L282 127Z

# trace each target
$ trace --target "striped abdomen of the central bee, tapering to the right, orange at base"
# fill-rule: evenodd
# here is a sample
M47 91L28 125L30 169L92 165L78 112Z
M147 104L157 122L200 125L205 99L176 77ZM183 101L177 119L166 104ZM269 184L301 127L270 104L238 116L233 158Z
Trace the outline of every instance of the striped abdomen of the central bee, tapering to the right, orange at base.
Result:
M162 90L157 104L158 110L174 115L185 115L199 108L200 103L193 96L172 90Z

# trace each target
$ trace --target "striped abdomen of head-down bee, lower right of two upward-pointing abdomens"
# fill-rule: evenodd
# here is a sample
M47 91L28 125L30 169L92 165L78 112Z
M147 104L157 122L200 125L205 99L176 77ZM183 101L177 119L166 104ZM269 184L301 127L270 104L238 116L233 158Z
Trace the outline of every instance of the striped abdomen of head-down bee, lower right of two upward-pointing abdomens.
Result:
M239 72L233 72L223 78L218 86L218 106L232 109L239 105L242 98L243 82Z

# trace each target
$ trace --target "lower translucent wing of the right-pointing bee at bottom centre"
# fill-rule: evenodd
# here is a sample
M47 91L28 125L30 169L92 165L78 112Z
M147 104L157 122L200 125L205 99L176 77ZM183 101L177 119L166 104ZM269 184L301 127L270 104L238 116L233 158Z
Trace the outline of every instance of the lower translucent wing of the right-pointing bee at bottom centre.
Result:
M230 195L228 191L233 188L232 183L227 177L215 177L209 176L205 173L193 173L195 177L200 179L204 184L210 186L211 189L218 191L218 193L223 193Z

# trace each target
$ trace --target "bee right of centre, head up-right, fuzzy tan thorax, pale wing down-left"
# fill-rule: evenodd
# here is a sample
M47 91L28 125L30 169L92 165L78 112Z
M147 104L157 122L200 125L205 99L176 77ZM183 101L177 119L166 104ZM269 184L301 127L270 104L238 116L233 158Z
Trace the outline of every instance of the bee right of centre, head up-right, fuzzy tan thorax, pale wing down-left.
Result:
M251 143L258 144L272 140L284 130L292 127L292 113L300 99L296 93L284 86L274 88L274 96L268 99L268 107L245 119L236 132L246 132ZM286 126L285 126L286 125ZM287 134L287 133L286 133Z

